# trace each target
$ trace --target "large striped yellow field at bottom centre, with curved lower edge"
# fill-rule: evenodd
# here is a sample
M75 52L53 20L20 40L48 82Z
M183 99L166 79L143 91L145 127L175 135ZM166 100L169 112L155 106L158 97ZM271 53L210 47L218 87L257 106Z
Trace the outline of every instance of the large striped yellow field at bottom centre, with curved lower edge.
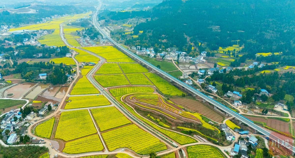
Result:
M135 124L101 134L110 151L127 147L138 154L160 152L167 147L159 139L138 128Z

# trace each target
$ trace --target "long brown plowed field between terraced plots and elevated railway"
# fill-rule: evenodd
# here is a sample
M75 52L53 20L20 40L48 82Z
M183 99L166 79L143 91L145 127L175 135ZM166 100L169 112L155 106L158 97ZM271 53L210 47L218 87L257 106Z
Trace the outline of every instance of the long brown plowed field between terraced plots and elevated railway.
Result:
M205 106L199 101L186 98L170 98L170 100L178 105L194 110L197 113L200 113L216 122L221 122L223 120L222 116L219 113L215 112L214 110Z

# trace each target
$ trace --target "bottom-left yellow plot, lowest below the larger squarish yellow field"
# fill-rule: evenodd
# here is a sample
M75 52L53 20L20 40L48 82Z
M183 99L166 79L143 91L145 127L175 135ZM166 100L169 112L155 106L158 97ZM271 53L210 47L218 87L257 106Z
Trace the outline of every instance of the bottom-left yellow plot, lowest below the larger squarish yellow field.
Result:
M98 134L76 139L65 143L64 153L81 154L87 152L99 152L104 149Z

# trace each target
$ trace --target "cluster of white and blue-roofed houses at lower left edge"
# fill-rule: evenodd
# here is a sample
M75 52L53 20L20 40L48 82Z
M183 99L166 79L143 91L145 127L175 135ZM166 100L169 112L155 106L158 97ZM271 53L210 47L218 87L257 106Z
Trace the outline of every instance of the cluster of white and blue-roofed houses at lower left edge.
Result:
M1 120L0 128L3 129L1 135L3 140L7 140L7 144L14 144L16 141L19 141L19 136L24 136L27 132L27 127L30 126L30 122L37 121L48 112L48 106L55 107L52 109L57 109L59 106L58 102L47 102L38 113L31 112L25 118L22 118L22 113L20 110L11 109L8 113L5 114L5 117ZM32 106L29 104L28 106ZM17 132L17 129L19 132ZM32 143L40 144L42 139L38 140L35 137L31 139Z

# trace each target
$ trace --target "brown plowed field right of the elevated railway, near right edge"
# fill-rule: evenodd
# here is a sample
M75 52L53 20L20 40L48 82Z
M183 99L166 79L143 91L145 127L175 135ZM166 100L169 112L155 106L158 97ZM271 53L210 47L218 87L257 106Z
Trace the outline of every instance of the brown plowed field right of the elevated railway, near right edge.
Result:
M251 121L258 121L258 122L265 122L266 126L271 127L273 129L276 129L278 131L284 132L286 134L290 134L289 132L289 123L276 120L276 119L264 119L260 117L251 117L251 116L245 116L246 118L250 119Z

